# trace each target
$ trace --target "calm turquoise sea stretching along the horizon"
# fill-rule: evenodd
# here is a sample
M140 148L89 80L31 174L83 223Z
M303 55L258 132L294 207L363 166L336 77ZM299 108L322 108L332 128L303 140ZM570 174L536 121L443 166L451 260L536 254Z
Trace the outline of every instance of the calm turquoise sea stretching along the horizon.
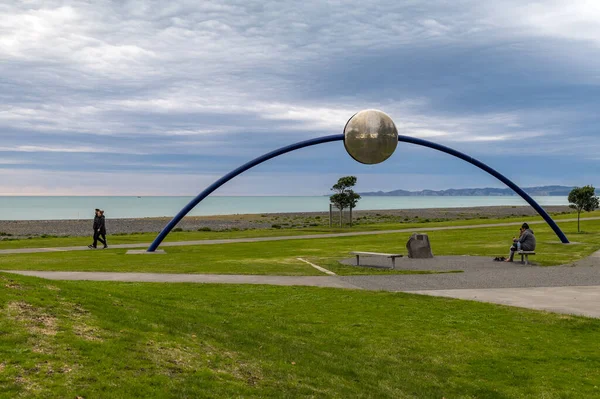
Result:
M17 197L0 196L0 220L89 219L94 209L107 218L174 216L194 197ZM567 197L536 197L545 205L568 205ZM357 210L465 208L527 205L518 196L502 197L363 197ZM245 213L326 212L329 198L314 197L208 197L192 216Z

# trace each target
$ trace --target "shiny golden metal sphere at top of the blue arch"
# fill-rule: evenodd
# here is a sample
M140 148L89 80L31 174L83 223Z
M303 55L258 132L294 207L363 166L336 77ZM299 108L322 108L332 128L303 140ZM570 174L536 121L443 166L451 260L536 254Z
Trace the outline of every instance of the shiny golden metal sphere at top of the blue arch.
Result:
M360 111L346 123L344 146L352 158L373 165L388 159L398 145L398 129L386 113L376 109Z

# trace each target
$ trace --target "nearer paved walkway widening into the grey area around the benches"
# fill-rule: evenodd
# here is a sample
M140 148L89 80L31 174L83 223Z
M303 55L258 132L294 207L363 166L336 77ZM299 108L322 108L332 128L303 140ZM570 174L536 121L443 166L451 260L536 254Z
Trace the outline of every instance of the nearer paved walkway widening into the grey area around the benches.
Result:
M373 258L372 261L380 258ZM462 273L369 276L260 276L217 274L10 271L52 280L270 284L386 290L492 302L600 318L600 251L568 266L539 267L489 258L401 258L399 268ZM346 262L351 262L347 260Z

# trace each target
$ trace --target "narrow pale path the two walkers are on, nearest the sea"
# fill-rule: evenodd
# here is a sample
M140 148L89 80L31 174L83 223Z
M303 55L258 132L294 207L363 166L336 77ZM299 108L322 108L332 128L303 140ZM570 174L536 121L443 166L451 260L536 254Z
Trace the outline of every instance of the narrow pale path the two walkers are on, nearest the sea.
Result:
M600 217L581 218L584 220L600 220ZM577 219L560 219L560 222L576 222ZM545 221L529 222L530 225L545 224ZM160 247L179 247L189 245L216 245L216 244L235 244L244 242L263 242L263 241L285 241L285 240L309 240L318 238L334 238L334 237L356 237L356 236L367 236L367 235L380 235L380 234L397 234L397 233L416 233L416 232L427 232L427 231L443 231L443 230L463 230L463 229L483 229L488 227L505 227L505 226L520 226L521 222L509 222L509 223L492 223L492 224L481 224L481 225L466 225L466 226L447 226L447 227L416 227L410 229L399 229L399 230L378 230L378 231L355 231L351 233L327 233L327 234L306 234L297 236L281 236L281 237L254 237L254 238L232 238L226 240L196 240L196 241L177 241L177 242L163 242ZM150 243L139 243L139 244L117 244L110 245L109 249L132 249L132 248L147 248ZM38 252L64 252L64 251L89 251L88 247L57 247L57 248L20 248L20 249L2 249L2 254L24 254L24 253L38 253Z

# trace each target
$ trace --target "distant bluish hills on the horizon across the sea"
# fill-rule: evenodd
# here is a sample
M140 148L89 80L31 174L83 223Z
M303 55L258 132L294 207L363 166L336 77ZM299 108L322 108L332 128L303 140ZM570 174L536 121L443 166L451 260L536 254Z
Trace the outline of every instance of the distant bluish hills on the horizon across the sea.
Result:
M531 196L567 196L573 187L567 186L542 186L542 187L524 187L523 190ZM516 195L510 188L450 188L448 190L421 190L421 191L372 191L368 193L359 193L363 197L486 197L486 196L508 196Z

